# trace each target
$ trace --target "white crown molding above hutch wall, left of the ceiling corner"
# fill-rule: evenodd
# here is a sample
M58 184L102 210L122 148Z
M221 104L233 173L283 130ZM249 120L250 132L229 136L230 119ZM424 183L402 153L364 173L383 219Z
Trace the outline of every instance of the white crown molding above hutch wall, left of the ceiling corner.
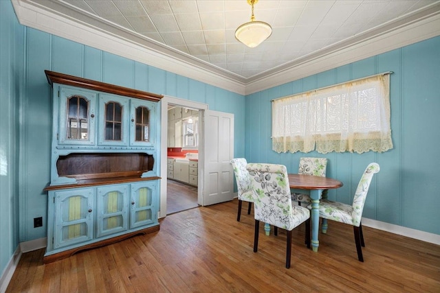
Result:
M60 5L53 1L43 3ZM234 93L241 95L245 93L244 78L165 47L153 40L149 41L140 36L133 36L133 34L110 26L106 27L106 30L102 30L98 28L97 22L99 21L96 19L87 19L86 17L87 22L85 22L81 20L85 18L84 14L75 14L78 16L75 19L34 1L12 0L12 5L21 25L199 80L212 86L218 86Z

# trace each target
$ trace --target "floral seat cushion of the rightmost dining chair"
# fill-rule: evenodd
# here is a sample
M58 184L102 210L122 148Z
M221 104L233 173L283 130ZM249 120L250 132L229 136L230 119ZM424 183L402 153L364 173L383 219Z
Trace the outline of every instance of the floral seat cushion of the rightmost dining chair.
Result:
M311 209L311 204L307 206L307 209ZM353 225L352 214L353 206L349 204L331 200L321 200L319 203L320 218Z

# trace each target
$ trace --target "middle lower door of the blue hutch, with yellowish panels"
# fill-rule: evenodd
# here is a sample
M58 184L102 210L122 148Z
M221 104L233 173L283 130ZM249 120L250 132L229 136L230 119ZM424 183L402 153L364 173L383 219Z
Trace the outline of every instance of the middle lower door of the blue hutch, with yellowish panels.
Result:
M101 237L127 229L127 207L129 203L127 185L98 187L98 230Z

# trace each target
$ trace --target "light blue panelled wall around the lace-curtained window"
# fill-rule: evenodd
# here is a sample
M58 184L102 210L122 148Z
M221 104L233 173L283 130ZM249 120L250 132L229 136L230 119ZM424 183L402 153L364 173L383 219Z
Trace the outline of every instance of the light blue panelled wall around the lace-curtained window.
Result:
M370 162L380 164L366 199L364 217L440 234L440 37L402 47L350 65L275 86L245 97L245 157L249 162L281 163L298 171L300 156L329 159L327 175L344 183L331 200L351 203ZM272 151L270 100L347 80L394 71L391 75L393 150L382 154Z

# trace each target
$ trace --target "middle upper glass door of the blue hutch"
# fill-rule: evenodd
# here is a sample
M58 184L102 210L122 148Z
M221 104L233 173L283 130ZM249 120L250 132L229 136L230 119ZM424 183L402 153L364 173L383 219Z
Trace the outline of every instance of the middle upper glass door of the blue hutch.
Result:
M115 95L100 94L100 127L98 133L99 145L126 146L129 130L124 121L128 119L129 99Z

